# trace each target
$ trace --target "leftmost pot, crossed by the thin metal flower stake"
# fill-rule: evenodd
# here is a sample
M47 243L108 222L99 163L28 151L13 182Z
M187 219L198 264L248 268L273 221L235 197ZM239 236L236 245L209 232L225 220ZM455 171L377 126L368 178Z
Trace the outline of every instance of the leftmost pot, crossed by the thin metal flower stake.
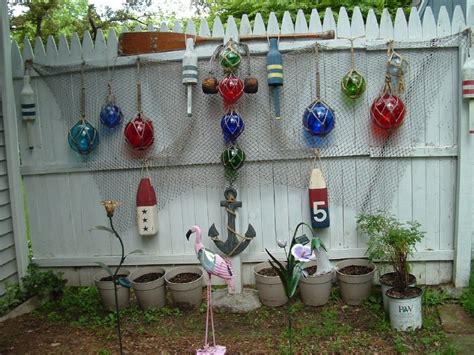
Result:
M130 275L130 271L120 268L119 275ZM114 283L112 281L101 281L102 278L108 277L109 274L105 270L99 271L94 275L94 282L99 289L100 298L104 308L113 311L115 309ZM119 309L126 308L130 305L130 289L117 285L117 301Z

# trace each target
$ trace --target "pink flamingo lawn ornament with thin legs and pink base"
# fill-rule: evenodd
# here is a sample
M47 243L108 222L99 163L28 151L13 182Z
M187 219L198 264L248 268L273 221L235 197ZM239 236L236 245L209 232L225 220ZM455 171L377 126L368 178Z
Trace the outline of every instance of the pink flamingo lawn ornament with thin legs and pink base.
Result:
M196 354L225 354L226 347L216 345L216 333L214 331L214 317L212 315L212 294L211 294L211 275L218 276L224 279L228 287L234 288L234 272L232 271L232 265L228 259L206 249L202 244L201 228L198 226L192 226L186 233L186 238L189 240L191 234L196 233L196 241L194 242L194 250L196 251L197 257L201 266L208 274L207 284L207 313L206 313L206 336L204 338L204 348L198 349ZM207 342L207 335L209 329L209 314L211 315L211 328L212 328L212 340L214 345L209 346Z

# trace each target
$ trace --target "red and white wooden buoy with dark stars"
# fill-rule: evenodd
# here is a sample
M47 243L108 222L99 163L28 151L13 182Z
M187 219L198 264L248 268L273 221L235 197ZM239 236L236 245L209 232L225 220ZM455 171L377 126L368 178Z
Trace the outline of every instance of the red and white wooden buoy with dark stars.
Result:
M137 227L141 236L155 235L158 232L158 206L149 177L142 178L138 185Z

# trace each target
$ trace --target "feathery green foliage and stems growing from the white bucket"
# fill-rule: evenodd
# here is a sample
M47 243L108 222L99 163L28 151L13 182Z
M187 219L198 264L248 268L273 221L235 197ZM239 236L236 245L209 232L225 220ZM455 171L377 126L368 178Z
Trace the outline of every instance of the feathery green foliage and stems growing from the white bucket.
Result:
M395 271L394 286L406 289L409 285L410 265L408 257L413 255L415 245L423 239L418 222L405 224L393 216L365 214L357 217L359 228L367 233L369 259L386 261Z

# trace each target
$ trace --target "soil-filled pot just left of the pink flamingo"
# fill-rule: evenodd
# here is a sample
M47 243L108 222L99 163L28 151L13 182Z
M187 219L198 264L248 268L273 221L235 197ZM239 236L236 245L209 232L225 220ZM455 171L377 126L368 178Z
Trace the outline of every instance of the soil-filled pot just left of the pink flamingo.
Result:
M179 266L165 274L166 285L175 306L197 308L202 301L202 270L197 266Z

